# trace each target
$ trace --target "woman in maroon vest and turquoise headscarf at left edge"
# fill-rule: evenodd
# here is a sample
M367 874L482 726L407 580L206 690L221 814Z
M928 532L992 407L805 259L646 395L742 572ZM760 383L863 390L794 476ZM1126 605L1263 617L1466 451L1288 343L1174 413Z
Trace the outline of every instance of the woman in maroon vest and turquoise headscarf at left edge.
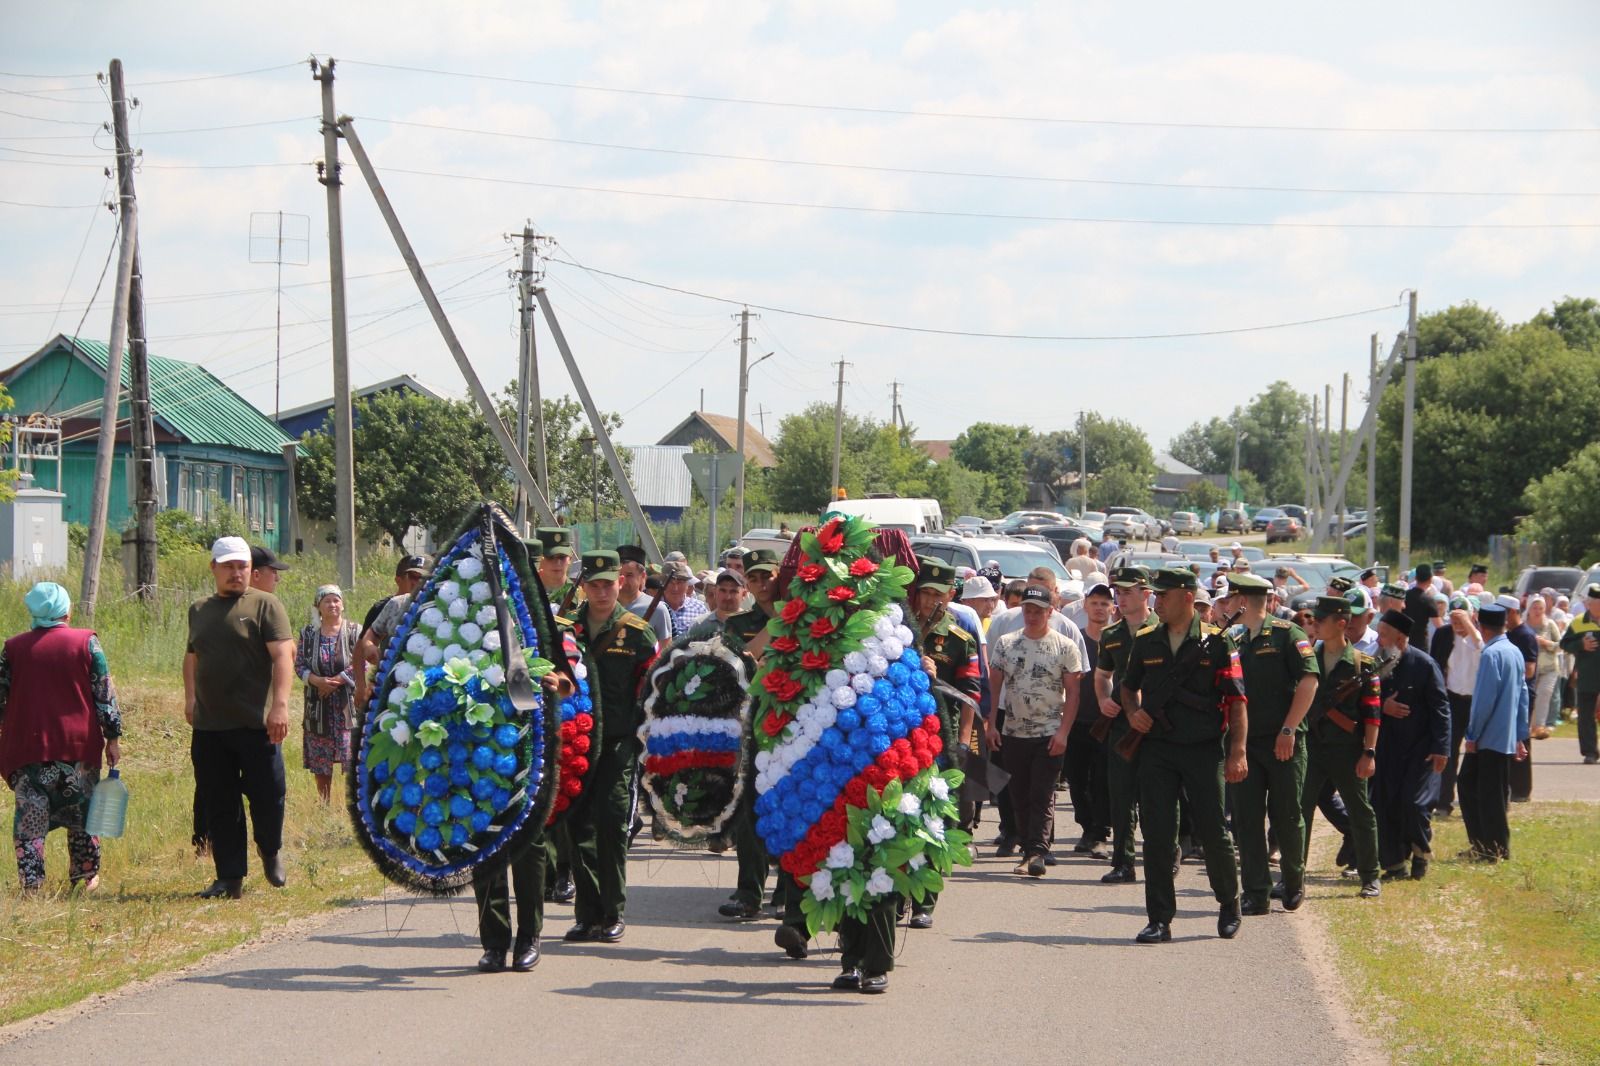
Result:
M45 884L45 834L67 831L72 885L99 885L99 839L83 832L99 783L101 749L122 759L122 711L106 653L90 629L72 629L72 599L40 581L22 600L32 629L0 651L0 776L16 792L16 868L22 892Z

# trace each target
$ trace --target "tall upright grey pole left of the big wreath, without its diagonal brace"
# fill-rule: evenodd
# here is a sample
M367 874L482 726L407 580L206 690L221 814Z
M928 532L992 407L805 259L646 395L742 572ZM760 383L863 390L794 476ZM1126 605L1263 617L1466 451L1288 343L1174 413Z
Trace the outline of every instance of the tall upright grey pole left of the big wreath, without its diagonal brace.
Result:
M333 114L333 58L310 61L322 83L322 165L328 192L328 290L333 311L333 522L339 587L355 587L355 421L350 416L350 341L344 327L344 214L339 206L339 123Z

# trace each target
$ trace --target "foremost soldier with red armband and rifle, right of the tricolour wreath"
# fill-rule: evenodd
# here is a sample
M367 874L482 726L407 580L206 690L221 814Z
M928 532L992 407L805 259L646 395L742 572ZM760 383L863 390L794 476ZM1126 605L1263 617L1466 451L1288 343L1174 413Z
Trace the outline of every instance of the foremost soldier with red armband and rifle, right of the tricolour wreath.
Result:
M1190 570L1157 570L1158 626L1133 639L1122 706L1128 725L1147 739L1139 744L1139 815L1144 820L1144 909L1149 924L1141 944L1173 938L1178 912L1173 866L1178 860L1178 795L1189 799L1190 818L1205 847L1211 893L1221 906L1216 932L1238 935L1238 864L1227 839L1222 779L1245 778L1245 687L1238 655L1216 626L1195 615L1198 583ZM1226 752L1224 752L1226 735Z

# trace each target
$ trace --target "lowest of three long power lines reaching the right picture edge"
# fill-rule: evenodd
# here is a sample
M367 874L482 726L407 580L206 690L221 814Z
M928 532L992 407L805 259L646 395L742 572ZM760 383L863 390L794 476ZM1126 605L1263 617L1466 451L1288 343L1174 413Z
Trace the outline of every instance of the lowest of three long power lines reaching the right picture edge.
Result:
M1093 226L1208 226L1224 229L1422 229L1422 230L1466 230L1466 229L1600 229L1600 222L1258 222L1246 219L1182 219L1182 218L1098 218L1086 214L1011 214L1003 211L954 211L938 208L883 208L862 206L854 203L814 203L802 200L755 200L749 197L714 197L693 192L661 192L653 189L618 189L613 186L576 186L554 181L530 181L526 178L498 178L493 174L450 174L437 170L414 170L410 166L379 166L386 174L410 174L414 178L443 178L446 181L478 181L501 186L526 186L533 189L557 189L562 192L600 192L619 197L645 197L654 200L682 200L691 203L739 203L744 206L778 206L800 208L808 211L843 211L848 214L888 214L912 218L962 218L989 219L997 222L1067 222Z

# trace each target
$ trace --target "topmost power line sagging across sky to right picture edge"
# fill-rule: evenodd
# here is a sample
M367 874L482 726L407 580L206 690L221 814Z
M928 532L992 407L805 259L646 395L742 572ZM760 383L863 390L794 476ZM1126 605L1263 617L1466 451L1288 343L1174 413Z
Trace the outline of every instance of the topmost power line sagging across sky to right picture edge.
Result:
M403 70L406 74L429 74L435 77L470 78L478 82L502 82L509 85L533 85L538 88L560 88L576 93L611 93L619 96L648 96L658 99L686 99L702 104L741 104L747 107L782 107L790 110L832 110L856 115L891 115L898 118L958 118L970 122L1026 122L1067 126L1126 126L1150 130L1245 130L1262 133L1600 133L1600 126L1328 126L1328 125L1288 125L1288 123L1245 123L1245 122L1157 122L1133 118L1083 118L1083 117L1051 117L1051 115L1006 115L992 112L963 110L917 110L909 107L869 107L853 104L814 104L803 101L758 99L749 96L712 96L706 93L672 93L667 90L619 88L613 85L582 85L576 82L549 82L541 78L514 78L498 74L469 74L462 70L440 70L435 67L408 67L392 62L363 62L358 59L342 59L346 66L373 67L378 70Z

